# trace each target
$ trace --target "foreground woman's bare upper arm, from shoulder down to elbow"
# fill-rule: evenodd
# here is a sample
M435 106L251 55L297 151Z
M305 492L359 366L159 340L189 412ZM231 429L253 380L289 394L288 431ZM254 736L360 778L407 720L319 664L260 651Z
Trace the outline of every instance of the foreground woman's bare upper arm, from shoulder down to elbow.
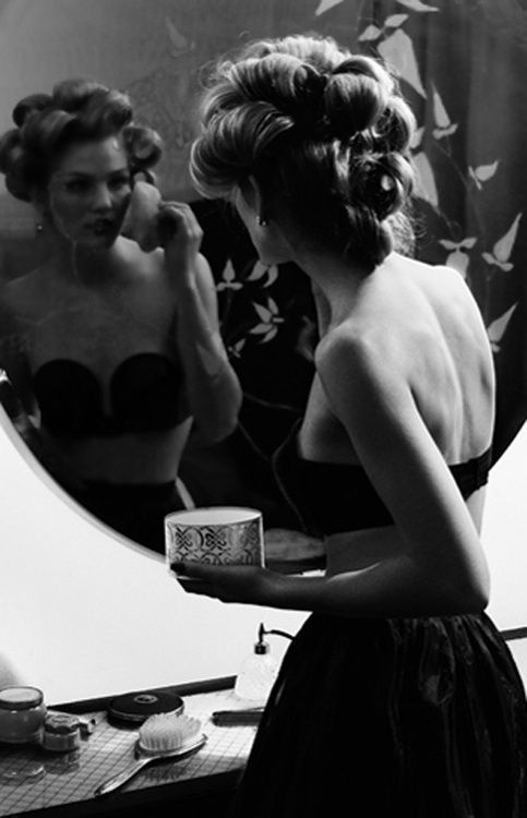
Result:
M335 334L319 371L333 411L395 522L402 548L390 586L400 590L394 602L409 597L417 606L433 600L445 612L481 610L489 573L478 531L419 412L405 364L390 345ZM343 377L346 371L351 375ZM373 575L387 592L385 568Z

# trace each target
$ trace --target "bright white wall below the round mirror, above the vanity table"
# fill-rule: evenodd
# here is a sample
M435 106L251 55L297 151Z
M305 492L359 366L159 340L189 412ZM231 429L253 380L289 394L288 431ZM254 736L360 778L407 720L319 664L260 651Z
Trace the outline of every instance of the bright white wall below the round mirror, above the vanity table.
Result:
M48 703L235 675L261 622L306 615L187 594L163 558L64 494L0 408L0 687ZM288 641L268 637L279 659Z

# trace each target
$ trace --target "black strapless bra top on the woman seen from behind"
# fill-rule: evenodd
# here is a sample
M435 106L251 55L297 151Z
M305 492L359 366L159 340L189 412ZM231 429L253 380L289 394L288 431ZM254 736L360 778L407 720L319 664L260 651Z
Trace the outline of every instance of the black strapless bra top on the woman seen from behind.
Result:
M393 517L359 464L331 464L299 456L295 424L273 457L273 470L302 529L313 537L393 525ZM491 450L450 471L464 497L488 481Z

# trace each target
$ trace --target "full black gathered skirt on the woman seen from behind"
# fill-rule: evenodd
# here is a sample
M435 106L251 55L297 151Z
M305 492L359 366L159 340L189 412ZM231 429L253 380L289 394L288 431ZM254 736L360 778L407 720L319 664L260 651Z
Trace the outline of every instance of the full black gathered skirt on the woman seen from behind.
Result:
M526 818L525 691L493 623L310 616L235 816Z

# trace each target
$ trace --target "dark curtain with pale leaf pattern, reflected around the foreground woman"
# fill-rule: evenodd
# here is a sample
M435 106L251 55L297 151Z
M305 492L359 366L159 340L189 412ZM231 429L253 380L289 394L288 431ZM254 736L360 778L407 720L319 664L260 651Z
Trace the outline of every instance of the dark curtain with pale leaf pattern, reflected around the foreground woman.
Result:
M328 34L382 57L397 72L418 120L416 255L456 267L482 311L498 376L494 460L527 414L523 3L320 0L288 3L287 14L283 4L271 3L267 31L244 34ZM245 393L231 443L238 464L252 450L247 474L259 464L263 481L272 449L303 409L312 375L309 288L292 265L264 268L221 205L194 207L205 226L204 251L217 278L225 338ZM245 490L250 483L251 478ZM270 496L270 481L266 486Z

